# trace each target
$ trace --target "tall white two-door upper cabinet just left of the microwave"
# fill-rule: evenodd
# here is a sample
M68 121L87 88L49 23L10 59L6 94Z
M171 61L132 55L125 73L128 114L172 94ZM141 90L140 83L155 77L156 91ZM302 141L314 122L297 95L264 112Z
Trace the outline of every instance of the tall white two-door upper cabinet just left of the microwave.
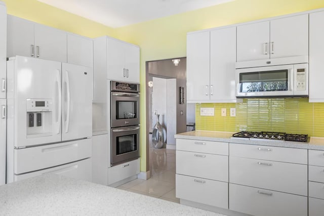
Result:
M187 35L187 101L230 103L235 98L236 27Z

